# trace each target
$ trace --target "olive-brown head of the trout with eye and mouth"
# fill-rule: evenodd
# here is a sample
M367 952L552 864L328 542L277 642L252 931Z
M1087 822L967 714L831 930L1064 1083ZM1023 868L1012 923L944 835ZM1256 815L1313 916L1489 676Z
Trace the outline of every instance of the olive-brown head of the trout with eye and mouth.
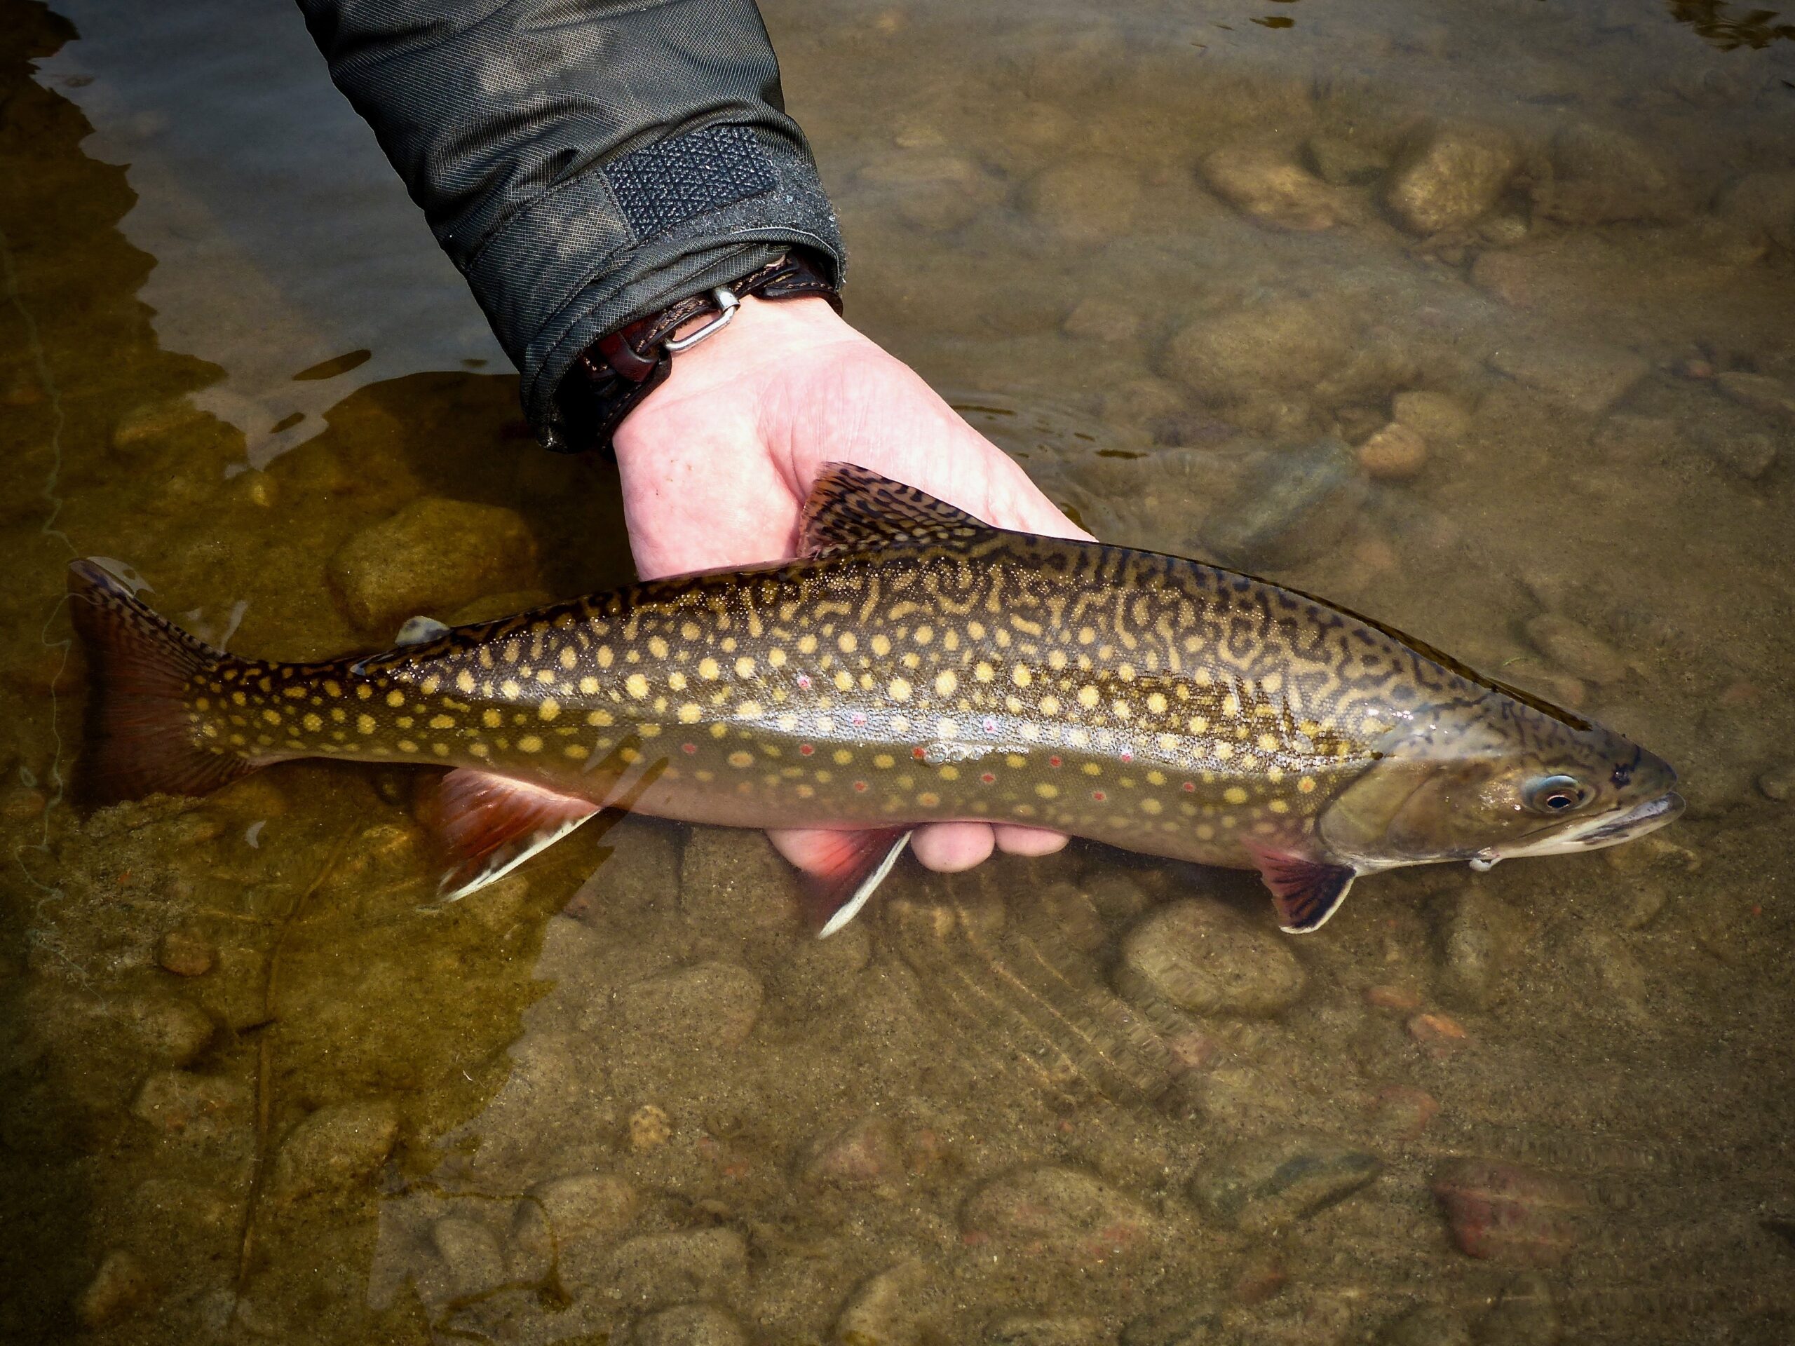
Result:
M1361 869L1598 851L1684 809L1662 757L1499 691L1416 712L1377 752L1319 820L1328 849Z

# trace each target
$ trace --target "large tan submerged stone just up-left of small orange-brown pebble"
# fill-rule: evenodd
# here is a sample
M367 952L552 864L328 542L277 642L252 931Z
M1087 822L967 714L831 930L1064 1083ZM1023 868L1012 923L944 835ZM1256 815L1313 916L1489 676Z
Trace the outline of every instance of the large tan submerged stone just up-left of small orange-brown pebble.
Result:
M1269 300L1185 327L1167 343L1163 373L1206 402L1307 393L1352 350L1352 323L1312 300Z

